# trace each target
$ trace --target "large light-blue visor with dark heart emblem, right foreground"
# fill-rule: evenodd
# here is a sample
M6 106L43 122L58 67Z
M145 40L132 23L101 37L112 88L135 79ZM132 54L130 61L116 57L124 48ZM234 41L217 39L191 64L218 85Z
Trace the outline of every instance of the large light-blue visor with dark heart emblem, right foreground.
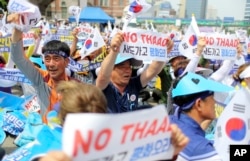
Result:
M205 91L229 92L234 88L224 85L199 74L188 72L174 85L172 97L190 95Z

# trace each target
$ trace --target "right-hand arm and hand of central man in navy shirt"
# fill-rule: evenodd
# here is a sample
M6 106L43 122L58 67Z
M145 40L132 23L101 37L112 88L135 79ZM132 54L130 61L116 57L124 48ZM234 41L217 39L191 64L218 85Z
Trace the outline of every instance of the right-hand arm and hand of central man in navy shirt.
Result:
M167 44L167 53L173 49L173 41L169 40ZM163 67L166 65L166 62L162 61L153 61L146 70L144 70L141 74L141 84L142 87L145 87L150 80L152 80L157 74L161 72Z

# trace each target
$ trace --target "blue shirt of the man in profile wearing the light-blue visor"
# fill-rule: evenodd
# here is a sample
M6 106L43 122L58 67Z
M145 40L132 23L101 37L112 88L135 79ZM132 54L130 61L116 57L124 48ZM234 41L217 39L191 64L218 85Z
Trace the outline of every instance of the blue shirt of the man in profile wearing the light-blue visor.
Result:
M183 113L179 116L171 115L170 118L189 138L188 145L179 154L182 160L209 160L218 157L212 142L205 138L205 132L195 120Z

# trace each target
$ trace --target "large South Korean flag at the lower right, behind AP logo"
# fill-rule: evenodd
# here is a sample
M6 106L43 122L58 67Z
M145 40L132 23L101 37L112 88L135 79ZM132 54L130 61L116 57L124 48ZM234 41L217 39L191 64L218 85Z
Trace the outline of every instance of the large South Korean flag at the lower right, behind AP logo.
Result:
M247 89L236 91L232 100L219 116L214 146L223 161L229 160L229 145L250 143L250 93Z

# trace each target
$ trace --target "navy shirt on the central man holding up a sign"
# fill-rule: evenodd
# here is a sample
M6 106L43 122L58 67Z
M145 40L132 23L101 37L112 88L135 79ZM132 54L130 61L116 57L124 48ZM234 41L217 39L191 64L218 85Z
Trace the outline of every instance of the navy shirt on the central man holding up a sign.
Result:
M123 94L113 85L112 82L103 90L108 101L110 113L122 113L134 111L138 107L139 92L142 89L140 76L132 77Z

